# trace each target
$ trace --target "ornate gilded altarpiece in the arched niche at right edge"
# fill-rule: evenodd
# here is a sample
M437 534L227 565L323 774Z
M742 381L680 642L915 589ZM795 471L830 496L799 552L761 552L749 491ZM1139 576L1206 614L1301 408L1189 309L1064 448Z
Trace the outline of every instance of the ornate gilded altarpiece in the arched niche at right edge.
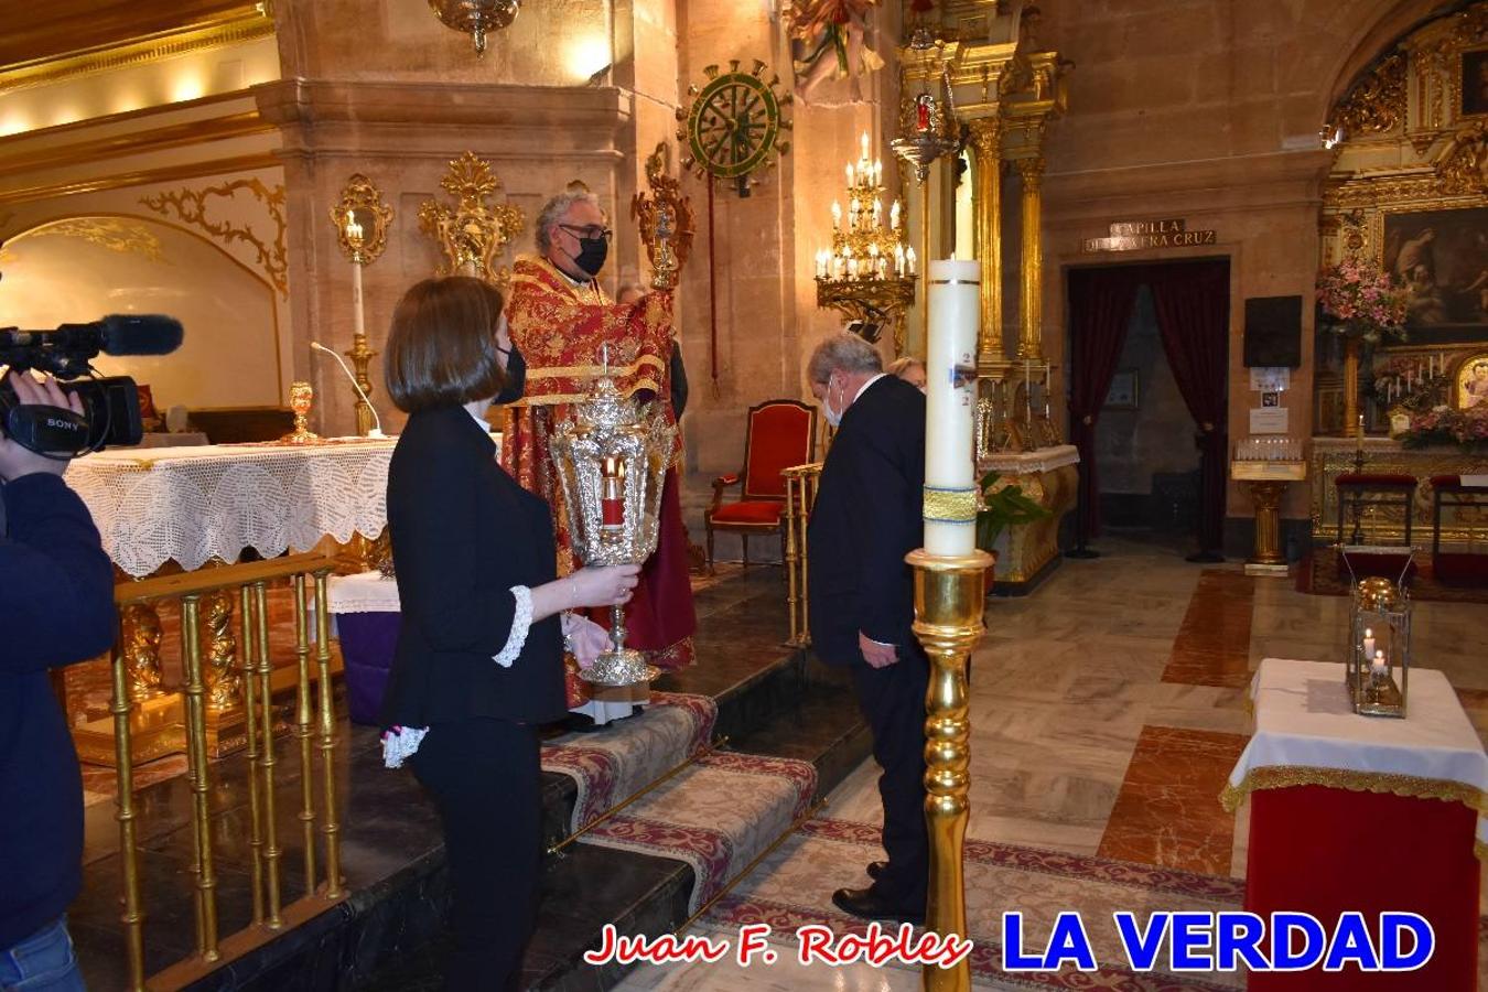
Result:
M1400 375L1420 388L1452 384L1488 351L1488 1L1436 18L1382 51L1333 107L1324 140L1335 161L1323 190L1321 266L1347 257L1378 265L1406 296L1406 341L1364 354L1359 372L1366 471L1421 480L1414 543L1430 544L1433 474L1482 471L1485 460L1458 448L1406 451L1391 440L1379 382ZM1359 442L1345 434L1344 347L1320 327L1314 360L1312 526L1332 535L1333 477L1354 470ZM1437 376L1433 379L1433 376ZM1409 387L1408 387L1409 388ZM1460 390L1430 403L1460 406ZM1367 541L1403 535L1399 510L1364 521ZM1449 540L1488 537L1488 524L1463 518Z

